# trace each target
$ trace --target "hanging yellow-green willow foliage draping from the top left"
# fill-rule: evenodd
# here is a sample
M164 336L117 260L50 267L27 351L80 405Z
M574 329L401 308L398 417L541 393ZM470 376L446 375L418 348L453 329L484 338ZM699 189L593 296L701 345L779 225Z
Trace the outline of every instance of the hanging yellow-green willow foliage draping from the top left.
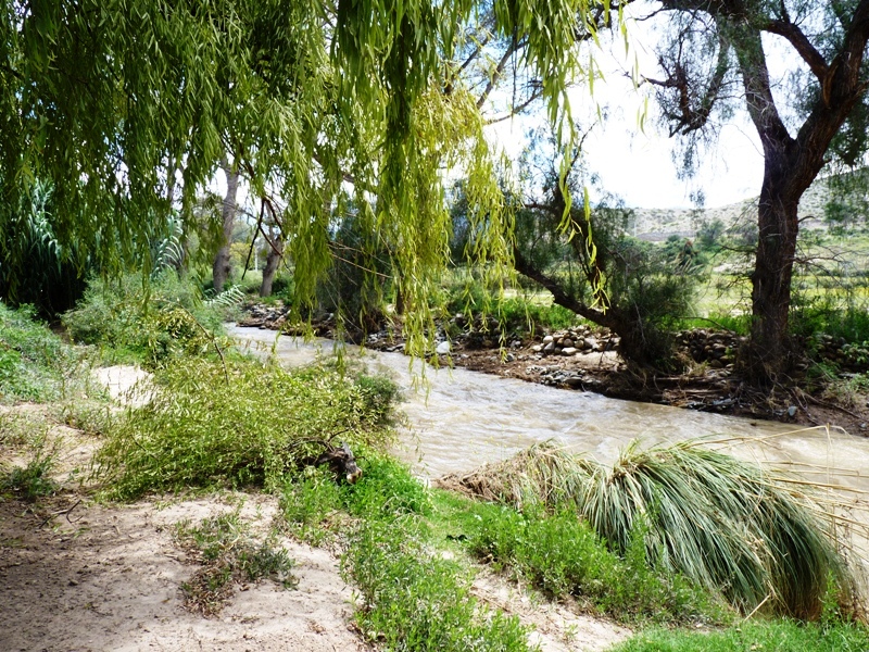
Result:
M616 8L618 4L615 5ZM481 12L521 39L569 145L578 34L600 0L18 0L0 18L0 264L14 266L9 206L53 188L54 230L111 272L166 235L176 176L186 229L198 191L231 156L256 196L280 198L295 287L312 300L331 260L348 183L369 240L390 254L420 334L448 259L443 176L469 178L478 253L508 261L509 211L483 121L454 52ZM619 13L619 17L620 17ZM376 285L377 279L370 281ZM420 339L412 348L420 350Z

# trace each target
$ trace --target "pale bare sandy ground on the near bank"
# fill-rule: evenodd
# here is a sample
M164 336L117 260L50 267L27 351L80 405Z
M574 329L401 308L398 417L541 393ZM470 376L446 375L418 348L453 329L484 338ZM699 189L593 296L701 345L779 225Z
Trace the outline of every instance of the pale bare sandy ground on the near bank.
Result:
M134 367L99 372L116 399L141 380ZM5 409L4 415L43 412ZM0 428L8 424L0 421ZM369 650L353 622L353 591L332 552L278 540L294 560L295 589L272 581L236 586L225 609L206 618L185 609L181 585L198 565L174 534L182 522L232 512L267 531L277 500L226 492L189 500L98 504L76 487L98 441L64 426L50 429L64 491L27 503L0 496L0 651L353 651ZM24 463L0 451L7 469ZM77 471L76 471L77 469ZM534 628L546 652L597 652L630 632L568 605L533 598L481 573L475 593Z

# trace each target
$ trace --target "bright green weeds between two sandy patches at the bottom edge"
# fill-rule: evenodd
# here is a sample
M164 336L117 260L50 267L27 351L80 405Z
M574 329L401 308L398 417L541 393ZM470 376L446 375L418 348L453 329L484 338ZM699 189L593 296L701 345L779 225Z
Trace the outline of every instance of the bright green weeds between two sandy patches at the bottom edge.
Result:
M480 605L458 564L432 553L401 521L370 521L352 537L345 576L360 594L356 620L378 649L525 651L515 617Z

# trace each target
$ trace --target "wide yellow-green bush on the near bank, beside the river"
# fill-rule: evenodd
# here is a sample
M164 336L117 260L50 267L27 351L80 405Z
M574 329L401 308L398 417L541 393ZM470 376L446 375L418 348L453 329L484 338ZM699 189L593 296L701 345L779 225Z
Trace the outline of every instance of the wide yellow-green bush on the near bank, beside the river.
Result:
M340 437L351 447L392 438L366 388L323 367L286 371L253 360L187 360L154 376L154 397L111 428L97 469L110 497L186 487L275 489Z

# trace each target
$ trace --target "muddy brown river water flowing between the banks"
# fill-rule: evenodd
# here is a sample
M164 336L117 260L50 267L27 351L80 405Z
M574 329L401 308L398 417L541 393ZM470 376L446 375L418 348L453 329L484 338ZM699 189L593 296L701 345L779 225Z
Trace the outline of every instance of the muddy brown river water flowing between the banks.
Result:
M230 333L252 350L274 349L289 365L310 362L317 354L333 354L329 340L303 343L281 336L276 341L274 331L259 328L231 327ZM633 439L652 444L710 437L730 440L730 451L735 455L792 464L813 481L869 491L869 439L834 428L797 429L608 399L462 368L428 367L427 387L414 390L420 362L411 369L410 359L401 353L348 347L347 354L361 358L370 371L390 375L404 389L402 410L407 424L396 452L423 476L469 471L547 439L612 462Z

